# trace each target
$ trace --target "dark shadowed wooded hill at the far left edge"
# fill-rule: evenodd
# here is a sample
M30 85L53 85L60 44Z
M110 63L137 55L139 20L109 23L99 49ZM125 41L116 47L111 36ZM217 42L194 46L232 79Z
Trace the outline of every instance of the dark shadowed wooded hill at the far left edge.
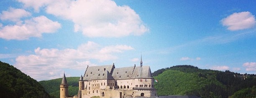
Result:
M0 98L50 98L33 78L0 61Z

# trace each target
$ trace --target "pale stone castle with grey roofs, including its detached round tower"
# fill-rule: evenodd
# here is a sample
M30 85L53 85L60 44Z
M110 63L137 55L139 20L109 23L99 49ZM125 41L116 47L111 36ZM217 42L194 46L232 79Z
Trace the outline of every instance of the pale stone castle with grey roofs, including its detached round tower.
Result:
M79 79L78 94L68 96L68 84L63 75L60 98L156 98L154 78L149 66L115 68L113 65L87 66Z

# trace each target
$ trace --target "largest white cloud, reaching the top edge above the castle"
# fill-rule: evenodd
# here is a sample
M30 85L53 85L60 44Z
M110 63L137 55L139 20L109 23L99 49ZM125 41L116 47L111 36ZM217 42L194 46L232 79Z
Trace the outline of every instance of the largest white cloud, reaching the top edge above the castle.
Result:
M19 1L33 8L45 6L47 13L72 20L74 31L88 37L123 37L148 31L133 9L111 0L47 0L38 5L33 5L34 0Z

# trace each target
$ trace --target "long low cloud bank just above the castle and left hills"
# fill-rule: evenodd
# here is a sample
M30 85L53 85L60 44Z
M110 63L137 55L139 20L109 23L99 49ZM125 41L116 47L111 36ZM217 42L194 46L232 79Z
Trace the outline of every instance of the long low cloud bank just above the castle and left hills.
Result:
M18 56L15 67L36 80L49 80L59 77L64 68L81 70L87 65L95 65L90 60L116 60L118 57L114 53L122 53L125 50L133 48L127 45L101 46L94 42L81 44L77 49L38 47L34 50L34 55Z

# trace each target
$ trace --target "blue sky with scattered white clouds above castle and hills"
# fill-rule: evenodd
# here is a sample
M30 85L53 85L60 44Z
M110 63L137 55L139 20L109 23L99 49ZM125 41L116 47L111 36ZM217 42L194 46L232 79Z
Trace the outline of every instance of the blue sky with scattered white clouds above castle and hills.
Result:
M1 0L0 60L32 78L87 65L256 73L252 0Z

